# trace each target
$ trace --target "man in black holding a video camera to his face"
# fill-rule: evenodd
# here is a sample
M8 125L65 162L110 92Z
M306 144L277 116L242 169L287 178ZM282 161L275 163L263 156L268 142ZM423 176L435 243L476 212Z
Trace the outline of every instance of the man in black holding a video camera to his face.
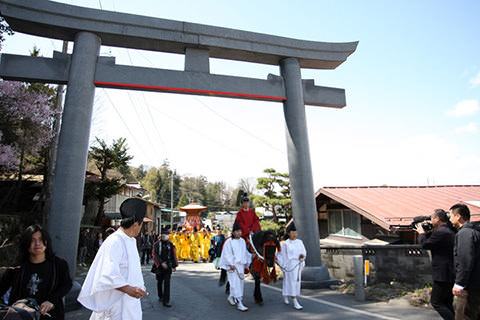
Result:
M430 303L443 319L455 319L453 309L452 287L455 270L453 267L453 246L455 232L449 224L446 211L436 209L431 216L431 225L422 223L417 228L420 233L420 243L424 249L432 253L432 292Z

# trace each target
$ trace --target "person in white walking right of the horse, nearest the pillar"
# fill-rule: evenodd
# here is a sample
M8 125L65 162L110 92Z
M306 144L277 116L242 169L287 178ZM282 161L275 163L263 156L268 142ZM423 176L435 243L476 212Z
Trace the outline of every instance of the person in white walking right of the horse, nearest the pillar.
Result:
M277 262L283 271L282 295L285 304L289 304L288 297L292 298L293 307L302 310L297 296L300 295L302 282L302 269L305 266L307 251L302 240L297 239L297 229L292 222L287 227L288 239L282 244L282 249L277 253Z

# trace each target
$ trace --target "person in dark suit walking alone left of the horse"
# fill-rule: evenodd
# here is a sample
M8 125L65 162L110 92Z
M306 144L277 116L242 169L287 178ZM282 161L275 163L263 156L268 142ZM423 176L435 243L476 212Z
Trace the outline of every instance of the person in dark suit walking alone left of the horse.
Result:
M164 307L171 307L170 304L170 278L172 271L175 272L178 266L175 246L168 241L168 229L162 229L160 240L153 246L153 259L155 260L155 274L157 278L158 299L163 302Z

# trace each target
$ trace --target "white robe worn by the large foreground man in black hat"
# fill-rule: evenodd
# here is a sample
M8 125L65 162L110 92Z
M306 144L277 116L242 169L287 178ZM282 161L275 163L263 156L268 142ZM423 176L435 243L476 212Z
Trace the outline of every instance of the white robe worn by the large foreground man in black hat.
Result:
M98 250L78 301L93 311L91 320L140 320L140 299L117 290L126 285L145 290L137 240L118 229Z

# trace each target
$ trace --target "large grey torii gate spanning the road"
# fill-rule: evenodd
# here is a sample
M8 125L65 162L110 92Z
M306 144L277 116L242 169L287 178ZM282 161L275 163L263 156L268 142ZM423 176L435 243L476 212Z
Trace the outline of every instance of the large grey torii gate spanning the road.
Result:
M301 68L335 69L358 42L326 43L60 4L0 0L0 14L14 31L73 41L73 54L53 58L2 54L0 77L66 84L48 230L57 254L74 273L90 122L96 87L148 90L283 103L292 210L308 251L304 287L331 283L322 265L305 105L342 108L345 90L301 79ZM100 46L185 55L185 70L115 64ZM215 75L209 58L280 66L266 80Z

